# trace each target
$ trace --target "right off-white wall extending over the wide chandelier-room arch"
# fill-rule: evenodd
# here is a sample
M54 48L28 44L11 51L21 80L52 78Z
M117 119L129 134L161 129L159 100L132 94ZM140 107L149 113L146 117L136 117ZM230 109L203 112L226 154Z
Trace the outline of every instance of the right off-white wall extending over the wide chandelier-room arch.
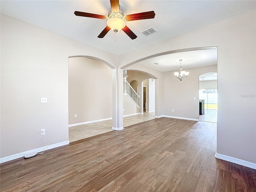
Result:
M256 10L118 56L129 68L172 50L218 47L217 153L256 163ZM228 72L228 73L227 73ZM246 74L247 77L244 78ZM186 79L185 79L186 80ZM185 81L184 80L184 81ZM161 81L159 79L159 86ZM160 87L159 101L164 98ZM174 94L174 93L173 93ZM164 102L159 115L164 115Z

